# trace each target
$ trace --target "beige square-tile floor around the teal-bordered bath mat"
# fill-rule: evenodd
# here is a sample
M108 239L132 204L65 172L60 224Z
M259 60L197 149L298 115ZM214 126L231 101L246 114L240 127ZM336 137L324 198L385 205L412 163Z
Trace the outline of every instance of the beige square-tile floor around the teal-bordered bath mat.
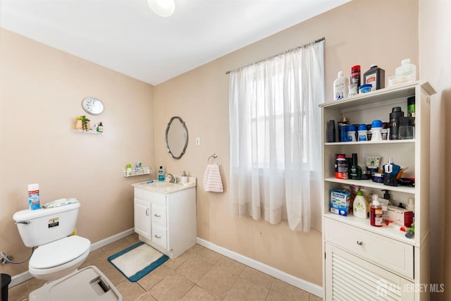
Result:
M187 250L132 283L107 257L138 242L136 234L89 254L85 266L97 266L116 286L124 301L142 300L321 300L304 290L229 259L201 245ZM44 284L36 278L9 289L10 301L25 301L28 293Z

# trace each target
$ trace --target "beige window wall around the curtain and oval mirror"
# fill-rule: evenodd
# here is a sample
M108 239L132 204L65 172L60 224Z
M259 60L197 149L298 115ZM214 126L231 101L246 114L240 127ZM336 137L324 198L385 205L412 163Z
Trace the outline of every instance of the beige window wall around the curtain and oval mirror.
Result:
M159 113L155 116L154 130L158 165L173 173L186 170L202 182L206 159L216 153L221 161L226 191L204 192L202 183L197 188L199 238L321 285L319 231L297 233L290 231L286 223L270 225L229 214L228 76L225 73L326 37L326 96L330 100L333 80L339 70L349 73L351 66L360 64L365 72L377 63L388 77L395 73L402 59L410 58L418 64L417 20L417 1L354 0L157 85L154 99L155 111ZM394 30L395 24L409 26L396 25ZM171 116L182 117L190 135L187 152L180 160L171 159L163 144L164 129ZM194 146L195 137L201 138L200 147Z

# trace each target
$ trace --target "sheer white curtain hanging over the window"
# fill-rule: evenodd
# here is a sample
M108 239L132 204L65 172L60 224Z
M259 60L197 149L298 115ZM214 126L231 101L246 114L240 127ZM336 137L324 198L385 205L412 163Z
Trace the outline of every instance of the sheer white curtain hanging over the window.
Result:
M322 202L324 42L230 71L230 210L309 232ZM319 216L319 220L321 216ZM320 223L314 223L319 228Z

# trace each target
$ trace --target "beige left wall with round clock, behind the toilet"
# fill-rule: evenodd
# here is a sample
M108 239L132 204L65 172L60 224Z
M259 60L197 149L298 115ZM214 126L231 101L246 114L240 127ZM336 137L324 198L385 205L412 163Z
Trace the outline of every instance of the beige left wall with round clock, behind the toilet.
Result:
M90 117L104 135L73 132L87 96L104 102ZM122 166L153 164L152 98L151 85L0 30L0 251L15 260L30 252L13 223L30 183L39 183L42 202L80 198L78 233L92 242L133 227L130 184L140 177L125 178Z

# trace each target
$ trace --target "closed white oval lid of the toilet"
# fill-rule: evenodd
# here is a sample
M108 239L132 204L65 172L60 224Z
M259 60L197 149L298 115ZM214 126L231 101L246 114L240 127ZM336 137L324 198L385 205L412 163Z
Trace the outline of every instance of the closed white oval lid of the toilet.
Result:
M50 269L66 264L89 250L91 242L77 235L39 246L33 253L29 265L33 269Z

